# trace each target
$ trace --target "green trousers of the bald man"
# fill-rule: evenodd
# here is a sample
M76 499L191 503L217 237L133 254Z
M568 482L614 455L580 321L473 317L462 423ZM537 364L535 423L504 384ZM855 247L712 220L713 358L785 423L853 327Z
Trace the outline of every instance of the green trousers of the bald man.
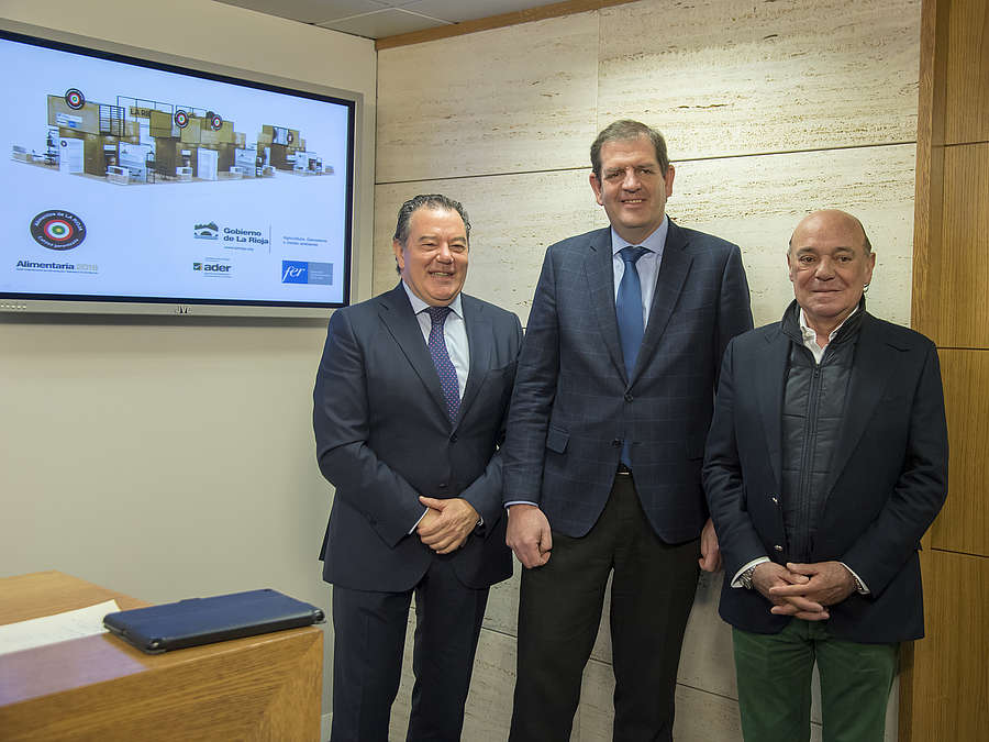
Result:
M835 639L826 621L800 619L778 634L735 629L732 635L745 742L810 739L815 662L823 742L882 742L899 644Z

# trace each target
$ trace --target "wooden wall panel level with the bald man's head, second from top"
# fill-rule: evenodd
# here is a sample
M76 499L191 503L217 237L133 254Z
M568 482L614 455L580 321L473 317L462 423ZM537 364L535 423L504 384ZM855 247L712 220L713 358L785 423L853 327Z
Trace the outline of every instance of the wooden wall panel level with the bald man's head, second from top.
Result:
M938 263L923 301L924 324L940 347L989 348L989 143L944 148ZM918 301L920 301L920 297Z

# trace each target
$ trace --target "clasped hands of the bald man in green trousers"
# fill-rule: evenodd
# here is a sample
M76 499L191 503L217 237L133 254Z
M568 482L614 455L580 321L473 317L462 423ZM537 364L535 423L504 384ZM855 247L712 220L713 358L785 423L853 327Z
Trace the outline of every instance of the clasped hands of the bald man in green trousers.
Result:
M831 617L829 606L852 595L855 580L841 562L763 562L752 574L752 586L773 603L771 613L823 621Z

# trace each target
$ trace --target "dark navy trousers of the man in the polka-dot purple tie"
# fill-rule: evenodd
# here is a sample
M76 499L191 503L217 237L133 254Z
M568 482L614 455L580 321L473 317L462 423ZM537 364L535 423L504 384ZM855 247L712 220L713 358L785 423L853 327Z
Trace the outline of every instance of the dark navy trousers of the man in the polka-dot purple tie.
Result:
M331 742L387 742L413 594L415 684L405 739L460 739L488 590L465 587L449 557L438 556L419 584L404 593L334 586Z

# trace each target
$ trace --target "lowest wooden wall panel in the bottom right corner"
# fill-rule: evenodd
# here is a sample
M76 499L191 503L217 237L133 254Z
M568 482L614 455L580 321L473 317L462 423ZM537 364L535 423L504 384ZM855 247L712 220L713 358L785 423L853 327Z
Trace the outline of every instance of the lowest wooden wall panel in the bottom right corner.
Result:
M989 729L989 560L931 550L926 638L914 644L912 729L900 740L976 742Z

